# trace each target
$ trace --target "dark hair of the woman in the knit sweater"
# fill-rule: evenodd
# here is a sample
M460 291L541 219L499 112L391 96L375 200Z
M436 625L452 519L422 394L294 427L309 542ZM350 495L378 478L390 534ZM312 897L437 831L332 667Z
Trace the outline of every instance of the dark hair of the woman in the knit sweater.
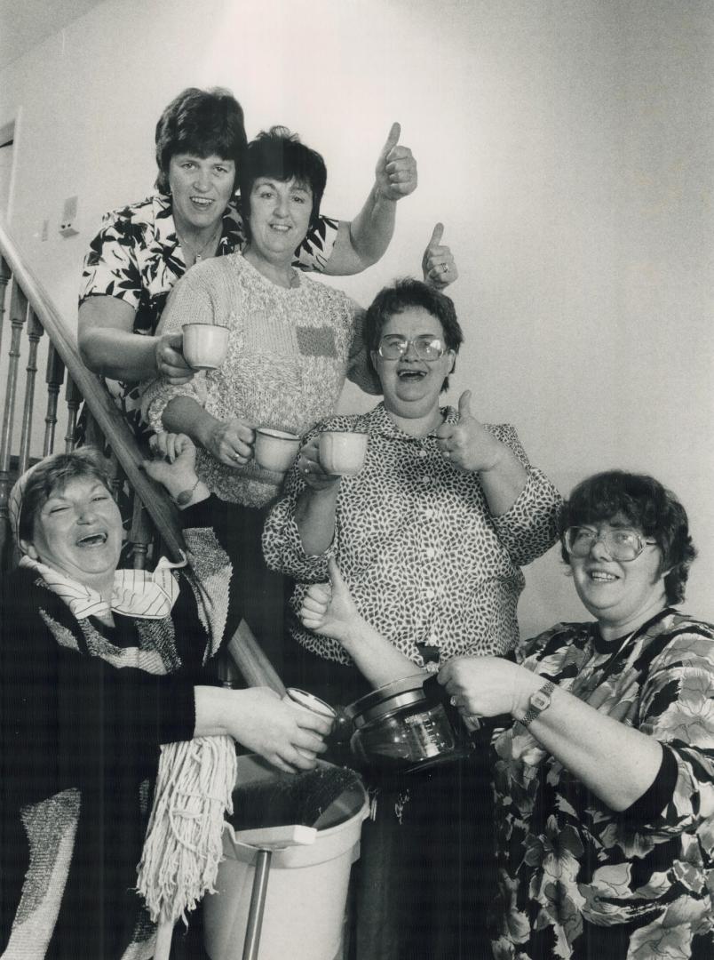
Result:
M297 133L287 127L271 127L258 133L251 140L241 164L238 181L241 185L241 210L243 223L250 234L250 193L259 177L271 180L296 180L308 186L313 195L310 226L314 227L320 217L322 194L327 182L327 168L316 150L300 143Z

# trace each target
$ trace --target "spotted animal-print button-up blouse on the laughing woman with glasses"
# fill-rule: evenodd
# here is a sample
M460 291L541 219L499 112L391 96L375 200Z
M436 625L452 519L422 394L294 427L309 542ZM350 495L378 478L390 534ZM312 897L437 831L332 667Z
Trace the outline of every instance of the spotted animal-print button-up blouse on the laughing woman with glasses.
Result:
M458 420L452 407L442 413L448 423ZM419 666L425 663L417 644L438 648L440 662L511 650L524 587L519 567L555 541L561 502L553 484L529 466L512 426L488 426L528 468L524 490L502 516L490 514L478 474L444 460L433 434L403 433L382 403L368 414L327 420L320 430L369 434L367 459L357 476L343 477L335 538L321 556L302 549L295 511L304 481L297 468L288 474L263 550L269 566L302 581L293 611L307 584L328 579L334 554L360 613ZM292 633L319 656L350 662L337 640L306 631L297 619Z

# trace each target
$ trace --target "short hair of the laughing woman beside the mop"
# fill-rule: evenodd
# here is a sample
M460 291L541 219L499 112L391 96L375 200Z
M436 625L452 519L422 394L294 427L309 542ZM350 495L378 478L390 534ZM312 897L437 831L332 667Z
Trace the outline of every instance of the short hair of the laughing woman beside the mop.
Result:
M40 460L22 492L17 517L18 540L33 540L39 511L54 493L61 492L71 480L77 479L99 480L111 492L108 462L95 447L82 446L71 453L56 453Z

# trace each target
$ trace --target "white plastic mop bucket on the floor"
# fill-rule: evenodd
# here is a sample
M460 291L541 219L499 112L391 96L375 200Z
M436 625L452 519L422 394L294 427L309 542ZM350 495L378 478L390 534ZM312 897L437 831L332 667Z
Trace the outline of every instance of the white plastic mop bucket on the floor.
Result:
M238 757L239 782L272 776L274 769L259 757ZM314 844L274 851L260 960L342 956L349 872L360 855L360 833L368 812L367 793L358 783L324 811ZM204 942L211 960L241 960L257 851L238 842L226 824L224 855L217 892L203 900Z

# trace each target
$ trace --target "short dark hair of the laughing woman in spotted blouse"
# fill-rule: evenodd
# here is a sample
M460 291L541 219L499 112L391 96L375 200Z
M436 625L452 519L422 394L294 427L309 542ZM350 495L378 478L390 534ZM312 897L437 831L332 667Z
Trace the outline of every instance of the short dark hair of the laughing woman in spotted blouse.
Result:
M362 335L369 356L369 366L375 376L376 371L371 355L379 347L385 324L395 313L403 313L410 307L421 307L440 322L446 348L458 353L459 348L464 343L464 331L457 319L454 301L450 297L435 290L434 287L430 287L428 283L412 279L409 276L396 280L392 286L380 290L374 300L371 301L362 328ZM446 377L441 390L448 390L448 386L449 378Z

